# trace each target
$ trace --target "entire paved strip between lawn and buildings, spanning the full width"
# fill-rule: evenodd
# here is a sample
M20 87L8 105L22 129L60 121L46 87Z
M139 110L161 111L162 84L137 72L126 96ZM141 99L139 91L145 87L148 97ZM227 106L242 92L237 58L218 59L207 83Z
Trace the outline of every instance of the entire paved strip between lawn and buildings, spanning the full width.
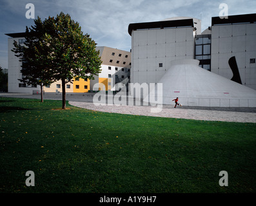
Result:
M20 93L0 93L0 97L15 98L37 98L40 95L20 94ZM61 94L46 93L44 99L61 100ZM144 115L152 117L166 118L186 118L193 120L209 120L224 122L253 122L256 123L256 108L203 108L203 107L177 107L174 105L163 105L160 112L153 113L152 106L96 106L93 103L93 94L67 94L66 100L69 104L79 108L92 109L109 113L123 113L129 115ZM135 105L135 104L133 104Z

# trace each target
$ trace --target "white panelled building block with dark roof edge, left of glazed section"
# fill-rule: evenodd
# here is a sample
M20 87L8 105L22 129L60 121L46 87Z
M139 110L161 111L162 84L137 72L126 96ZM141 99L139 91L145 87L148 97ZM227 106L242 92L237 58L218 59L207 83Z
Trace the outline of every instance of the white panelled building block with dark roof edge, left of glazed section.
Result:
M194 58L194 35L201 33L201 21L175 17L135 23L129 25L128 32L132 35L131 82L155 83L170 68L171 61Z

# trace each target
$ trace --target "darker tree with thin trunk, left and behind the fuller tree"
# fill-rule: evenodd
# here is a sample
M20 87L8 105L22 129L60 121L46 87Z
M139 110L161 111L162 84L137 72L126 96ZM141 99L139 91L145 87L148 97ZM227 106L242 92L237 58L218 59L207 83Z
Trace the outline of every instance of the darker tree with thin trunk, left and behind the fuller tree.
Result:
M43 44L45 32L41 19L37 18L35 26L30 29L26 26L24 45L14 41L14 49L12 50L16 53L16 57L21 58L20 61L22 62L21 73L23 77L19 80L28 85L40 85L41 102L43 102L43 86L48 86L54 82L48 59L50 48Z

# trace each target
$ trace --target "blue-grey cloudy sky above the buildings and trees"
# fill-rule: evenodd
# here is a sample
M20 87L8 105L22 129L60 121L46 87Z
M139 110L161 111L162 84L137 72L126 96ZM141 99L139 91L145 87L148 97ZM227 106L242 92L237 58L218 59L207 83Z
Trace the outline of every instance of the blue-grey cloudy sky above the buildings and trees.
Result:
M27 19L26 8L32 3L35 19L56 17L64 12L78 22L83 33L88 33L97 46L108 46L130 51L130 23L162 21L171 17L201 19L202 31L212 24L212 17L219 16L228 6L228 15L253 14L255 0L0 0L0 66L8 68L8 36L5 33L25 32L34 25Z

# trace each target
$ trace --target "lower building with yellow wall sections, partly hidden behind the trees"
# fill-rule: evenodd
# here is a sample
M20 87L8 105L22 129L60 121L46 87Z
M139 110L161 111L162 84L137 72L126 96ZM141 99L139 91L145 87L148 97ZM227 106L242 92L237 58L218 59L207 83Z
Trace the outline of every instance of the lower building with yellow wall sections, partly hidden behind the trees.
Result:
M21 59L15 56L11 50L14 48L14 41L19 44L25 42L25 33L8 33L8 92L11 93L40 93L40 86L27 85L20 82L22 79L22 62ZM101 60L101 73L94 76L94 80L89 79L73 79L72 83L68 82L66 86L66 93L85 93L90 90L104 89L115 90L115 84L123 82L128 84L130 82L130 68L131 68L131 53L123 50L99 46ZM94 87L94 84L102 83L104 88ZM62 92L61 80L52 83L50 86L43 86L44 92Z

